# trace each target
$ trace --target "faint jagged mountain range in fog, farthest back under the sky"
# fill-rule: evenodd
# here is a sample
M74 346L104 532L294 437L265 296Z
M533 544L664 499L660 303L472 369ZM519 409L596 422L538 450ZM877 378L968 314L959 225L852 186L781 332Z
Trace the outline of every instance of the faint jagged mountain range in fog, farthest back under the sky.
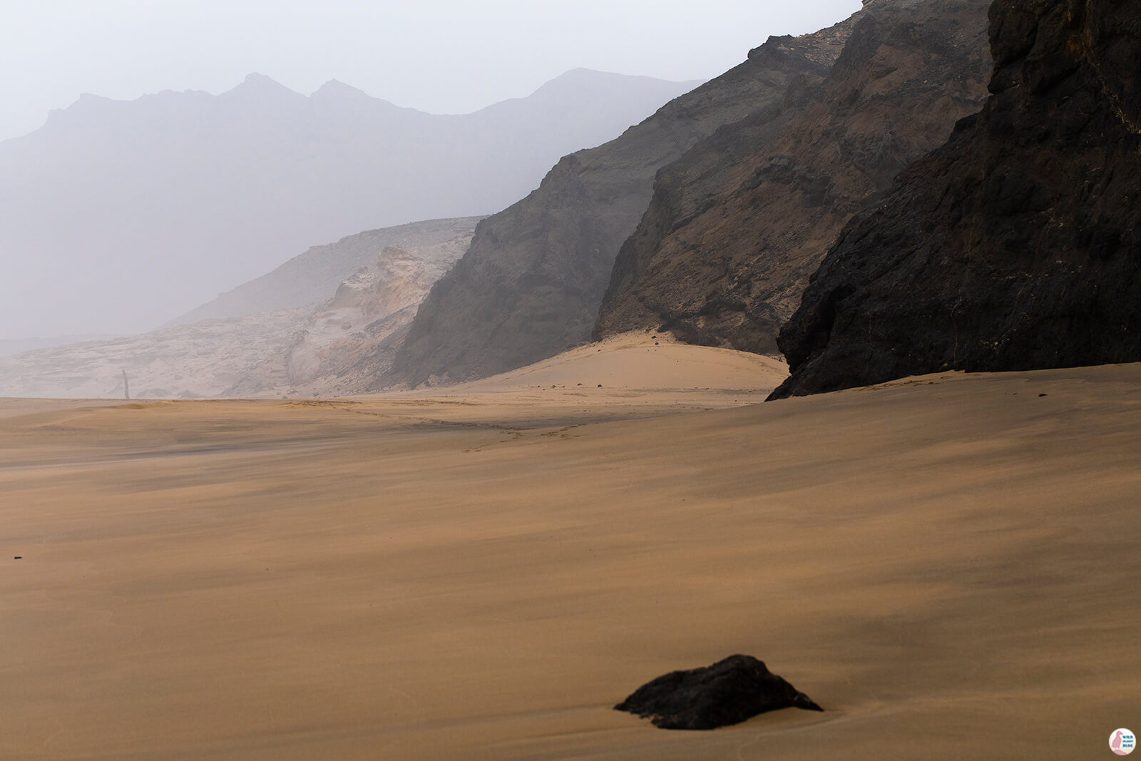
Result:
M497 211L695 84L574 70L448 116L259 74L84 95L0 143L0 338L148 330L305 246Z

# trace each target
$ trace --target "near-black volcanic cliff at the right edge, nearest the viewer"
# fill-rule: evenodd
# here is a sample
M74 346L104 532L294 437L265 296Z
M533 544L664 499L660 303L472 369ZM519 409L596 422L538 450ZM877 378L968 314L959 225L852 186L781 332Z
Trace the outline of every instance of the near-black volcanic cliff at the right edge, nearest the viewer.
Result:
M1141 359L1141 7L997 0L982 113L849 225L774 397Z

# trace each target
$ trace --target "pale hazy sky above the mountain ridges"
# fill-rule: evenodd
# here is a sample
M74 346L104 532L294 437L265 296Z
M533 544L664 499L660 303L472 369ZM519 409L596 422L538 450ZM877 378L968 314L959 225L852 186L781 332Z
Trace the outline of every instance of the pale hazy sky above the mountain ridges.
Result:
M0 139L81 92L222 92L260 72L432 113L521 97L577 66L707 79L769 34L860 0L0 0Z

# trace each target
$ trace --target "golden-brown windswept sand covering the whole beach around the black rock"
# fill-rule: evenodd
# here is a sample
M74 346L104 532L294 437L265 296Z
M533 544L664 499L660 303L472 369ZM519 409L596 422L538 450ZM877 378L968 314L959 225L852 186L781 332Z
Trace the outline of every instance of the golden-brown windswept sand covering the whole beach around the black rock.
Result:
M742 406L778 373L581 362L5 402L0 758L1074 759L1136 729L1141 366ZM733 653L825 713L610 707Z

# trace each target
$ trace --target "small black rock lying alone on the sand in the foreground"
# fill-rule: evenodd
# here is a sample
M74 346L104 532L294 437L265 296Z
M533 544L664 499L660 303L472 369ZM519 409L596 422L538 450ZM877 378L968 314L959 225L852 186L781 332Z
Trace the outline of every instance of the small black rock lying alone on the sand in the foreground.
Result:
M662 729L717 729L787 707L824 710L761 661L730 655L711 666L658 677L614 710L648 718Z

